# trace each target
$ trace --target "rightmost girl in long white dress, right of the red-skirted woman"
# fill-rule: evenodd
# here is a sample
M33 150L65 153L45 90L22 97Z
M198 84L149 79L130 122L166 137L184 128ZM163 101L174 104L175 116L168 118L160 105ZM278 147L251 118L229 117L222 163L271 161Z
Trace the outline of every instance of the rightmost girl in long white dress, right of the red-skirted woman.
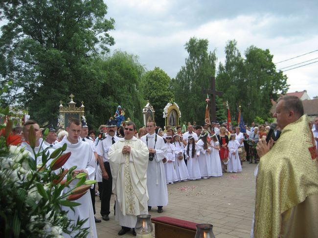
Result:
M231 137L227 146L228 146L227 172L229 173L242 172L241 161L237 152L238 148L240 147L240 143L238 143L237 140L235 140L235 134L231 134Z

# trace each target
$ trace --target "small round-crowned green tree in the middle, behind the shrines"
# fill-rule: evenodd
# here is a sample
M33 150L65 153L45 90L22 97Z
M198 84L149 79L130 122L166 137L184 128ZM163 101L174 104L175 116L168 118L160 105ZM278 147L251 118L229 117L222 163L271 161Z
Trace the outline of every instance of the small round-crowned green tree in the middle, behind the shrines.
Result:
M173 99L173 91L170 90L170 77L159 67L148 71L142 77L143 98L148 100L155 108L155 121L163 128L163 108Z

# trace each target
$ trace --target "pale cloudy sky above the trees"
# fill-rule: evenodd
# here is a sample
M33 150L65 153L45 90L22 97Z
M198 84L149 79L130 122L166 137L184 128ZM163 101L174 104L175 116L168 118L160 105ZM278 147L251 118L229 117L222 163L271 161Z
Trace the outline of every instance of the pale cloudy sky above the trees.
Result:
M158 66L171 78L185 64L188 55L184 44L194 36L209 40L209 50L216 49L217 65L224 63L225 45L233 39L243 56L250 45L255 45L269 49L274 63L316 50L279 63L276 69L318 61L318 0L105 2L107 17L116 22L111 32L116 42L112 51L120 49L138 55L148 70ZM311 98L318 95L318 62L284 73L290 92L307 90Z

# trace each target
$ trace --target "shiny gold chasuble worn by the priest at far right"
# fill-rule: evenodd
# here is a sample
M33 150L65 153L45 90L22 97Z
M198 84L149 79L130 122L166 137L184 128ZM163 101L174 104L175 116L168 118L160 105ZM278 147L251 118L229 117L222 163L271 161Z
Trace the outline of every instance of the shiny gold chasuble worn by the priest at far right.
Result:
M318 158L306 115L260 160L254 238L318 237Z

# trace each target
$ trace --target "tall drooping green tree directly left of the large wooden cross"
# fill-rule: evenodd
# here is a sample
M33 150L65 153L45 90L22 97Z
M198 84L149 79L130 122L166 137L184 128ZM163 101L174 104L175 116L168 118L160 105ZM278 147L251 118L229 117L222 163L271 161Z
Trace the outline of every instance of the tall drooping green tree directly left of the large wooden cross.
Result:
M206 107L203 89L210 89L210 78L215 75L215 52L208 52L208 40L191 38L185 43L189 56L185 59L171 86L182 112L182 121L204 122Z

